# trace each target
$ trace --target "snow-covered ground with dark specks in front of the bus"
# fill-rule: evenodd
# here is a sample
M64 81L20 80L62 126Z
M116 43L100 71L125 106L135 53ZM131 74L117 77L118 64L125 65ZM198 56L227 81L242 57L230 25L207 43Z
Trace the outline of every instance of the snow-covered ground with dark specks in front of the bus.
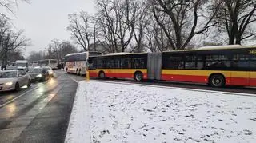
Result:
M256 97L81 81L66 142L255 142Z

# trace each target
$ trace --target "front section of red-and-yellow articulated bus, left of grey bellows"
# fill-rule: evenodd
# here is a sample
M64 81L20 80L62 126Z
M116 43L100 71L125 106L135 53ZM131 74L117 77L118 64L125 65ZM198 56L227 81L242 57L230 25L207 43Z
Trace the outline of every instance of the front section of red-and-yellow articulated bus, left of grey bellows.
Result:
M107 54L89 57L90 77L147 78L147 54Z

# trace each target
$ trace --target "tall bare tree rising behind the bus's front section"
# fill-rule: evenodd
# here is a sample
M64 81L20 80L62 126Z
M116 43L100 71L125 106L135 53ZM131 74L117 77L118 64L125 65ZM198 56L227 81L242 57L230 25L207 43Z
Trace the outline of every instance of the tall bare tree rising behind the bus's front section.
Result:
M135 23L136 10L134 1L131 0L98 0L97 6L98 19L101 25L106 26L102 29L102 34L106 36L109 46L114 46L114 52L123 52L129 46L133 38L133 28ZM109 36L108 36L109 35Z

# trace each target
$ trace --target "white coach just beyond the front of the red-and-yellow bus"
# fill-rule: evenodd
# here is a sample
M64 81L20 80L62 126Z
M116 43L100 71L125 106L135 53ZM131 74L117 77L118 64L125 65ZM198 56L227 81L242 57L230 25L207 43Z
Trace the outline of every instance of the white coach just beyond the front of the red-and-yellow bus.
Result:
M75 73L78 75L86 74L86 63L88 57L88 52L67 54L65 56L64 70L66 71L66 73Z

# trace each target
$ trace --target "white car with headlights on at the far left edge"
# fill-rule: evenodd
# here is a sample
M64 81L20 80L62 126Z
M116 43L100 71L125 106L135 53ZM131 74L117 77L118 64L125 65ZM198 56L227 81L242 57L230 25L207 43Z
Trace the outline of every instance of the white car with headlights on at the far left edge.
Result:
M0 91L18 90L30 87L30 75L25 70L5 70L0 72Z

